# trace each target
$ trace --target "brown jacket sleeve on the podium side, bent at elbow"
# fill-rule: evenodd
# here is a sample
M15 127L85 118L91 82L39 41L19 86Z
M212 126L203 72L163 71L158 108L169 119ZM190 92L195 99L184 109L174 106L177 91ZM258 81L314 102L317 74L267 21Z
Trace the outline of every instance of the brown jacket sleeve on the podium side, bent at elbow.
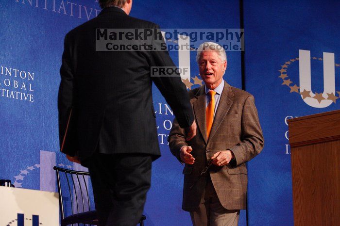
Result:
M241 117L241 142L229 148L235 155L230 162L232 167L253 159L261 152L264 145L255 99L252 95L245 100Z

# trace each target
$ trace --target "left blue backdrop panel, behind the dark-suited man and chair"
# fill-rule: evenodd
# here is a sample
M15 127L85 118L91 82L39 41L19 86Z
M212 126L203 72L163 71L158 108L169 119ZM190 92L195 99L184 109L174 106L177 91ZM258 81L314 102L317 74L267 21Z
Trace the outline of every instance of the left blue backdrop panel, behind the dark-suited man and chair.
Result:
M0 178L11 179L17 187L55 191L54 165L83 169L58 151L57 91L64 36L97 16L100 8L96 0L3 0L0 9ZM136 0L131 16L163 29L233 29L239 27L239 4ZM170 51L170 56L176 65L188 62L186 84L188 89L198 87L202 81L196 51L187 58L179 57L178 51ZM224 79L241 88L240 52L228 51L227 56ZM146 225L191 225L189 214L181 210L183 166L170 154L166 141L173 115L155 88L153 103L162 158L153 163ZM243 212L240 222L245 225Z

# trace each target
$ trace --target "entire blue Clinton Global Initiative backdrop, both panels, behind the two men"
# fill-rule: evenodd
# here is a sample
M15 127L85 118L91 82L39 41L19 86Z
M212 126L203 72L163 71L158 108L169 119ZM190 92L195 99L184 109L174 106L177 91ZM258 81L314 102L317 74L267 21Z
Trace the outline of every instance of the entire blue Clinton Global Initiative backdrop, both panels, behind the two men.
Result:
M293 225L285 120L339 109L340 4L244 0L241 10L243 85L255 96L265 136L263 152L248 163L248 223ZM64 36L97 16L100 8L96 0L2 0L0 11L0 178L11 179L17 187L55 191L54 165L83 170L58 151L56 106ZM240 27L240 13L239 0L135 0L131 16L163 29L226 29ZM170 51L170 56L179 65L178 51ZM190 51L187 59L188 89L200 84L195 56ZM224 79L241 88L241 54L228 51L227 57ZM173 115L156 88L153 104L162 158L153 163L146 225L191 225L189 214L181 210L183 166L166 141ZM239 225L246 225L244 211Z

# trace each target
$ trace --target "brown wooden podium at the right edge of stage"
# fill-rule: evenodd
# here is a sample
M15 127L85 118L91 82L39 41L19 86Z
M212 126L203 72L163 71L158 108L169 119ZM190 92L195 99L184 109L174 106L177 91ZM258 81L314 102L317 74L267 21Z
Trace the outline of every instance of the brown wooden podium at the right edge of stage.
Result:
M340 225L340 110L288 120L295 226Z

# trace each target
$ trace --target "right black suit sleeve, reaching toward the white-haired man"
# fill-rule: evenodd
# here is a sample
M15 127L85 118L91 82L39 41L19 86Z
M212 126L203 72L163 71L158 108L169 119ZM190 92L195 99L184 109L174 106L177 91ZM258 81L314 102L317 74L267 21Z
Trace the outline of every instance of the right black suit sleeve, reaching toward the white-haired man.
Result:
M155 25L154 31L160 32L158 25ZM176 67L165 47L164 39L153 39L153 47L157 50L151 51L153 61L151 66L156 67ZM187 94L187 87L182 82L179 74L167 76L152 75L152 80L169 103L178 124L182 128L190 126L194 120L192 108Z

